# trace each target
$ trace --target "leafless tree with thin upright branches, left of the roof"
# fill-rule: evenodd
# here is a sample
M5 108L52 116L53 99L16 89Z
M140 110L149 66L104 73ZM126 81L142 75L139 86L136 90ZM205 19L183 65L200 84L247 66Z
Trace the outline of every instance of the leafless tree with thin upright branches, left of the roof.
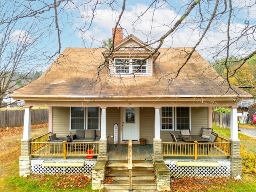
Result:
M8 98L21 84L28 84L29 74L45 68L59 52L49 52L51 44L44 44L54 20L48 21L44 12L57 3L41 6L36 9L36 2L32 1L0 2L0 108L9 105L2 103L3 98ZM44 18L40 16L43 14ZM58 30L58 25L54 28Z

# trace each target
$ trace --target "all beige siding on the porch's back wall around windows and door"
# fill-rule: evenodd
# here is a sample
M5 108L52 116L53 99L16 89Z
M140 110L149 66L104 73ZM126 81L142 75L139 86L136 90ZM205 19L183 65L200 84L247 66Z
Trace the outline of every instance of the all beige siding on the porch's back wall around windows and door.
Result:
M53 132L57 136L67 136L70 133L69 119L70 119L69 107L53 107ZM114 138L114 124L118 124L118 143L120 144L120 133L122 124L120 124L120 110L117 107L107 107L107 135L110 134L108 143L113 144ZM140 109L140 138L146 138L147 144L153 143L154 138L154 119L155 109L154 107L144 107ZM201 134L201 128L208 127L208 107L192 107L191 108L191 134ZM172 142L170 131L161 131L160 137L162 142ZM179 131L173 131L178 137ZM75 131L72 131L75 134ZM100 137L100 131L96 131L96 136Z

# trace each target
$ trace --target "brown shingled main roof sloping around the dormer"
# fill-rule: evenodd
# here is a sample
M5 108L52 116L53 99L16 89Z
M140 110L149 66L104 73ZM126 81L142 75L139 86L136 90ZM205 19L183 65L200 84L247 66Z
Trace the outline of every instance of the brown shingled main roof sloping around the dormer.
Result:
M161 48L152 76L109 74L103 48L66 48L38 80L12 94L16 100L72 98L148 98L158 100L240 100L252 96L228 85L198 52L186 65L192 48ZM182 67L182 68L181 68ZM180 69L181 68L181 69Z

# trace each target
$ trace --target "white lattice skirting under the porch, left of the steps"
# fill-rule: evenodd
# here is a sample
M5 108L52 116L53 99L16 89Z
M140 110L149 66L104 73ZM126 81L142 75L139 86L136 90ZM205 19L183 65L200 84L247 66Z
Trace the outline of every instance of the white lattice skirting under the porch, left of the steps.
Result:
M92 174L92 169L96 164L96 160L84 161L81 167L46 167L42 166L44 160L31 160L32 174ZM61 161L63 162L63 161ZM74 162L72 160L66 162Z

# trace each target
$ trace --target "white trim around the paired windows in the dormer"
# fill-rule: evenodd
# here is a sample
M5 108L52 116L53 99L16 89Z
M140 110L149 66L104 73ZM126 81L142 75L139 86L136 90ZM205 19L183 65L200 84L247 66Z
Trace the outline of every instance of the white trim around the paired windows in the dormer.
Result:
M129 73L118 73L116 72L116 59L129 59ZM146 72L145 73L140 73L140 72L132 72L132 60L137 59L137 60L143 60L143 58L114 58L114 74L117 76L146 76L148 74L148 59L146 60Z

